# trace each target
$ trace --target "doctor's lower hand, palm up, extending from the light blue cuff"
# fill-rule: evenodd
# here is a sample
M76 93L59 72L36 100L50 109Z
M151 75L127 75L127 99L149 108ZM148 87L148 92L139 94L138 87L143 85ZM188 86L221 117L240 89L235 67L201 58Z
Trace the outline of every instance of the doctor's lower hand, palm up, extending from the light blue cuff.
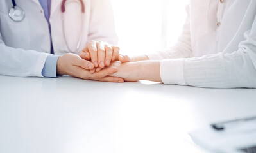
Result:
M57 73L59 75L71 75L85 80L124 82L123 78L109 76L118 71L115 66L109 66L94 74L90 73L91 69L94 69L94 64L81 59L81 57L76 54L68 53L58 58Z

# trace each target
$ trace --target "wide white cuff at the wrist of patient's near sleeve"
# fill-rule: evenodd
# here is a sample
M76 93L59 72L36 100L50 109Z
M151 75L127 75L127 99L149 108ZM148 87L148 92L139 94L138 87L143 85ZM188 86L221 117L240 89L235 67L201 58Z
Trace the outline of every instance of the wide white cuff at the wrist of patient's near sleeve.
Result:
M183 62L185 59L163 59L160 75L164 84L187 85L183 76Z

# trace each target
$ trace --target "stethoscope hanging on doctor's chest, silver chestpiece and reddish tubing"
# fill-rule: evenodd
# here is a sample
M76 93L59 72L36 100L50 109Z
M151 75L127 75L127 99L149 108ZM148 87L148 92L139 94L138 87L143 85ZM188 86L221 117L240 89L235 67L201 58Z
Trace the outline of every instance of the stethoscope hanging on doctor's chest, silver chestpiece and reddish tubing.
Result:
M83 29L84 29L84 15L85 15L85 4L83 3L83 0L79 0L81 3L81 34L80 34L80 38L78 40L78 43L76 43L76 49L75 50L71 50L71 48L69 47L69 45L67 44L67 37L65 35L65 25L64 25L64 13L65 13L65 3L67 0L62 0L62 6L61 6L61 11L62 11L62 33L64 34L64 40L65 43L67 45L67 48L69 50L69 52L73 52L76 53L78 52L78 49L81 45L81 38L82 38L82 34L83 34ZM71 0L73 2L78 2L77 0ZM22 8L20 8L19 6L16 5L15 0L12 0L12 8L10 8L9 11L9 17L14 21L14 22L21 22L22 20L24 20L25 18L25 12L22 10Z

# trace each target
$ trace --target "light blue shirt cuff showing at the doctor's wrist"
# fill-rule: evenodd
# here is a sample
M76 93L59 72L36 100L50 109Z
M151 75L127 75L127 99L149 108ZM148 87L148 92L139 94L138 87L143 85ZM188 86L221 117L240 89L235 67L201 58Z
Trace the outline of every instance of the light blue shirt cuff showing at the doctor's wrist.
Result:
M42 76L44 77L57 77L57 61L60 55L48 55L46 62L44 63L44 68L42 69Z

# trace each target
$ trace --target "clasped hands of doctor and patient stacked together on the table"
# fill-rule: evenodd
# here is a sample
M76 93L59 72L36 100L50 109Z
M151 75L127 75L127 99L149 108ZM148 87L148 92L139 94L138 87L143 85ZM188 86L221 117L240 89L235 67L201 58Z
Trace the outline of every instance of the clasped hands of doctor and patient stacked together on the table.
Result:
M117 71L123 65L121 62L130 61L127 58L128 56L119 55L119 47L102 41L90 41L79 55L68 53L60 56L57 62L57 73L85 80L124 82L122 75L126 74L122 72L118 74Z

